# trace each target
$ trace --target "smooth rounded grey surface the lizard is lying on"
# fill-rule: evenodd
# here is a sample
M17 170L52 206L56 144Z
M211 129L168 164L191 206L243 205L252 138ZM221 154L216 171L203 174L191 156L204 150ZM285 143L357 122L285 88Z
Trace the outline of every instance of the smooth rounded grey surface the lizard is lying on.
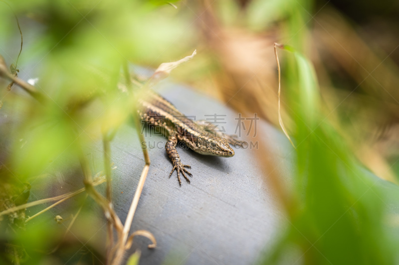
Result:
M186 115L226 114L225 129L234 132L236 113L216 101L190 89L174 86L160 91ZM196 101L182 100L195 98ZM281 157L281 170L289 175L289 159L281 153L290 149L285 138L264 122L257 125L267 141L274 143L274 153ZM126 135L131 135L126 139ZM142 250L140 264L252 264L278 230L283 218L276 199L258 170L249 149L235 150L232 158L203 156L180 149L182 162L192 166L191 184L176 172L169 178L172 164L162 136L147 136L147 141L161 143L150 149L151 166L138 205L132 231L146 229L158 240L155 250L146 248L148 240L137 238L131 253ZM144 166L139 140L131 128L122 128L113 141L115 209L121 218L128 212L141 169ZM123 191L123 193L121 193ZM121 195L123 194L123 195Z

